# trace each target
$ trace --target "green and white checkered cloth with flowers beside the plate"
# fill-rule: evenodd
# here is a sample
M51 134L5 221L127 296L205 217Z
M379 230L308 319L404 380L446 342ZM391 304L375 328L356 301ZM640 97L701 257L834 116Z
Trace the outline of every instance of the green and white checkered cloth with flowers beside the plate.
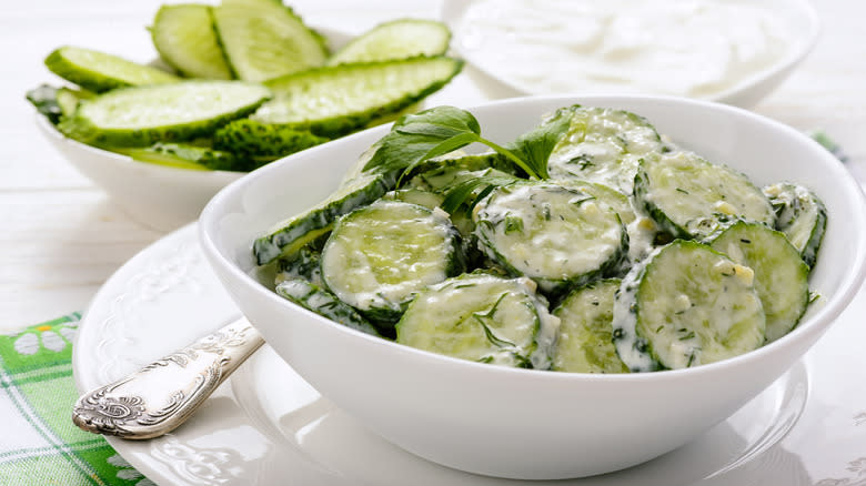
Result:
M81 315L0 335L0 485L155 486L101 436L72 424L72 337Z

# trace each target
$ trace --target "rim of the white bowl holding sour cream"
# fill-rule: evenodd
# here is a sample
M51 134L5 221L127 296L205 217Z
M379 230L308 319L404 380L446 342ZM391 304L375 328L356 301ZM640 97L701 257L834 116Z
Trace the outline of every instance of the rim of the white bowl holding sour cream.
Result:
M443 0L442 6L440 7L440 18L443 19L443 22L445 22L451 30L454 32L453 37L457 38L457 24L462 19L463 12L465 9L471 4L475 3L480 0ZM716 101L716 102L723 102L723 103L733 103L734 100L743 94L748 92L752 88L758 87L763 84L764 82L769 81L774 77L777 77L785 72L786 70L792 69L799 62L802 62L806 55L812 52L812 50L815 48L815 45L818 42L818 38L820 37L822 32L822 23L820 23L820 17L818 16L817 9L809 0L794 0L789 2L789 8L793 8L794 11L797 12L797 14L802 16L803 19L806 21L808 29L803 32L796 32L797 37L796 39L793 39L796 42L793 42L793 48L785 57L777 60L774 64L772 64L769 68L764 69L762 71L758 71L757 73L744 78L738 83L734 84L733 87L719 91L711 97L697 97L692 98L695 100L704 100L704 101ZM487 69L484 69L480 67L477 63L473 61L474 55L470 52L467 53L465 49L461 49L457 42L454 42L452 45L452 49L454 49L455 52L460 53L463 58L466 59L475 69L483 72L485 75L496 80L497 82L511 88L512 90L515 90L518 93L522 93L522 95L547 95L544 93L533 93L532 91L527 91L524 85L520 85L516 83L513 83L512 81L505 79L502 75L499 75L494 72L489 71ZM580 88L575 88L575 93L577 92ZM653 94L648 94L653 95ZM666 97L666 94L657 94L658 97ZM759 97L764 98L764 95ZM758 99L759 99L758 98ZM751 104L754 104L757 100L752 102Z

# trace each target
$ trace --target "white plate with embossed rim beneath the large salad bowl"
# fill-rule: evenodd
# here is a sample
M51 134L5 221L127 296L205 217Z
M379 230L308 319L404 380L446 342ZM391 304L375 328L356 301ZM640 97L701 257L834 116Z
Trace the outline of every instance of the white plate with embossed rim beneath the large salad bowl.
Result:
M864 312L860 292L803 362L697 441L620 473L555 483L866 484ZM130 260L97 294L74 346L77 385L83 392L117 379L236 313L201 254L195 226L185 226ZM392 446L322 398L268 346L174 433L109 442L163 486L528 484L460 473Z

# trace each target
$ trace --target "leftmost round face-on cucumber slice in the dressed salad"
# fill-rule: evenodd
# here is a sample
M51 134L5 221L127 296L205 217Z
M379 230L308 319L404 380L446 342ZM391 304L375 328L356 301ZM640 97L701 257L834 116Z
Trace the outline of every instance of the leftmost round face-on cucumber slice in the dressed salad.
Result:
M464 269L444 212L385 200L338 221L321 265L331 292L382 324L393 324L415 293Z

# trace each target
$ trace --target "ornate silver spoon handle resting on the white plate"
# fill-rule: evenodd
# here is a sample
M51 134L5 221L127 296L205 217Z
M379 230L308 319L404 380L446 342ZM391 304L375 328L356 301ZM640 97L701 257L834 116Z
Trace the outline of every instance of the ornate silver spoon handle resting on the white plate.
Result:
M264 343L238 321L138 372L84 394L72 422L94 434L152 438L187 421L238 366Z

